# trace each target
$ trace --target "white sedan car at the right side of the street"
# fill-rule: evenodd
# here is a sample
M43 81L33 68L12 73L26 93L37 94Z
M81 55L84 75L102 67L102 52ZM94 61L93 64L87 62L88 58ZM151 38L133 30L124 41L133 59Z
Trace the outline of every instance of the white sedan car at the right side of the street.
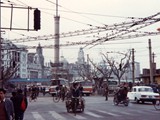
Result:
M158 93L154 93L152 87L149 86L134 86L131 92L127 94L130 101L139 103L152 102L155 104L156 100L160 99Z

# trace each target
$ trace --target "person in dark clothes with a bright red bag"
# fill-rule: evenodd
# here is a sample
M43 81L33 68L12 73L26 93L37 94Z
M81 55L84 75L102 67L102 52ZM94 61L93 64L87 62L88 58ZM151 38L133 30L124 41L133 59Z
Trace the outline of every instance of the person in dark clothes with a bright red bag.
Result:
M23 95L23 91L21 89L18 89L17 90L17 95L15 97L15 120L23 120L23 117L24 117L24 112L25 110L22 110L21 108L21 103L22 103L22 100L24 99L25 101L25 105L26 105L26 109L27 109L27 106L28 106L28 101L27 101L27 98Z

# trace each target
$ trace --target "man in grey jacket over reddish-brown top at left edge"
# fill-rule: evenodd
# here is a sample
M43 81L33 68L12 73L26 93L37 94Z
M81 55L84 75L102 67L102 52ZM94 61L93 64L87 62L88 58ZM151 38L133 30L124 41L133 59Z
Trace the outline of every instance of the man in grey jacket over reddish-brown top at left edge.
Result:
M6 90L0 88L0 120L13 120L14 107L10 99L5 98Z

